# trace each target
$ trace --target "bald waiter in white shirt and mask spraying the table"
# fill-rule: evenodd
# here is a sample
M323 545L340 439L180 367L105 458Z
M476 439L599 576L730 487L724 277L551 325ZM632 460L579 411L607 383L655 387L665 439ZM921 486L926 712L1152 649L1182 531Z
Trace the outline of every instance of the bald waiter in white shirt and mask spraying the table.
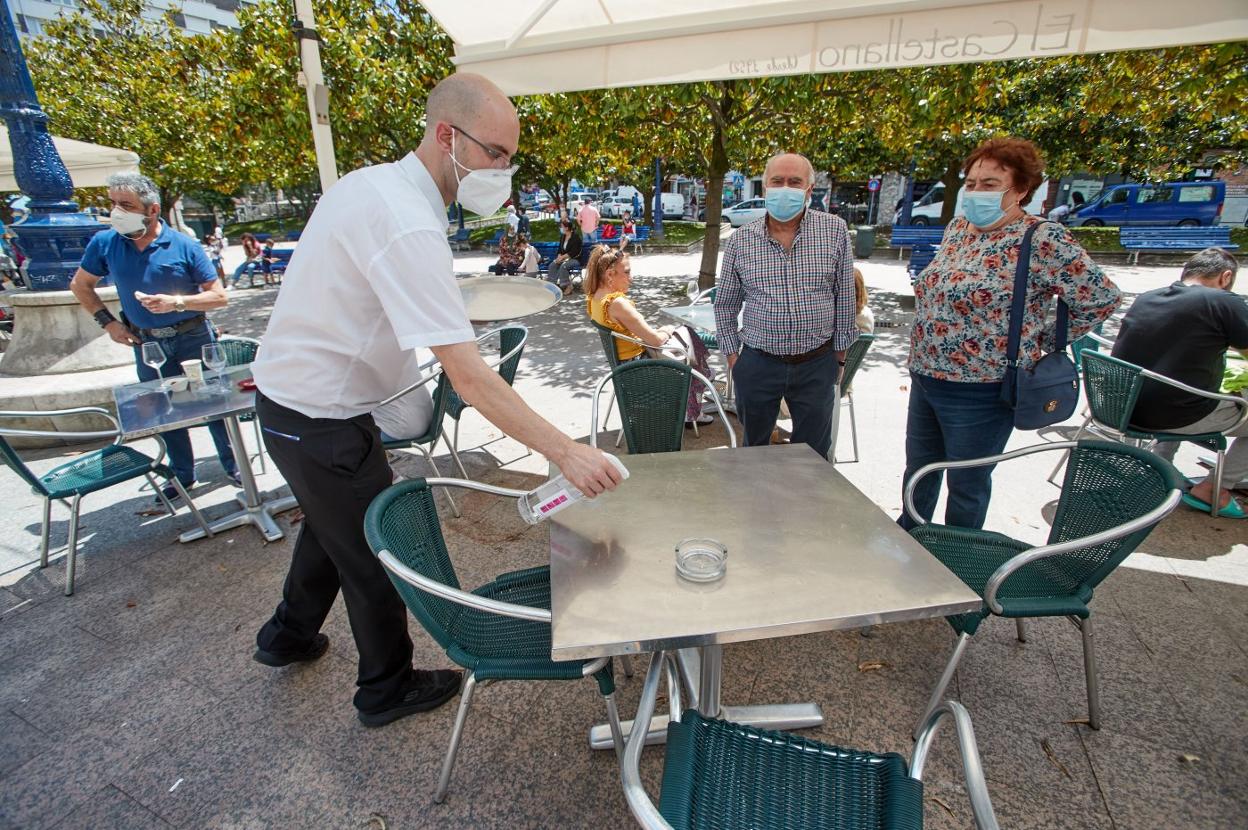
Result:
M442 705L461 673L412 668L407 609L364 539L364 510L391 484L369 412L414 383L431 348L464 399L554 462L587 494L619 474L533 412L477 349L447 243L447 206L493 215L512 191L515 109L477 75L439 82L421 146L344 176L319 201L291 257L252 371L265 444L303 508L282 602L256 660L324 654L321 625L342 590L359 650L361 723L382 726Z

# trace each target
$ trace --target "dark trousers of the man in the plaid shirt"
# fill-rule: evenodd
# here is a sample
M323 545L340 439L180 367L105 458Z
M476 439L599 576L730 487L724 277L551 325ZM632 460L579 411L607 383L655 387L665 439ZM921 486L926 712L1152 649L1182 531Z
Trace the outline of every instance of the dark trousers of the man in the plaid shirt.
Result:
M832 349L805 363L785 363L743 344L733 367L733 382L736 384L736 417L745 428L745 446L761 447L771 442L780 398L784 398L792 416L792 443L807 443L827 458L837 403L836 377L836 352Z

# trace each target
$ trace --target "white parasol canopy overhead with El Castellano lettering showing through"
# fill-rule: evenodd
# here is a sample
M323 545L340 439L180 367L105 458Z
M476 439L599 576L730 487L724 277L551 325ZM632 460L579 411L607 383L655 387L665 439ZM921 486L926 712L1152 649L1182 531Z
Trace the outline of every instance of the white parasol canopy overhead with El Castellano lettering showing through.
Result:
M1244 0L423 0L509 95L1248 40ZM1211 79L1212 80L1212 79Z

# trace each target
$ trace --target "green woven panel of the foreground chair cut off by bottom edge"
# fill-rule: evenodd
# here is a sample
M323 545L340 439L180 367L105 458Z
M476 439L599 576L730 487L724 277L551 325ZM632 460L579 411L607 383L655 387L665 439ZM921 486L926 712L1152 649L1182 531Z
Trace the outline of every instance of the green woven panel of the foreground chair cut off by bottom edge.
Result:
M919 830L924 785L872 754L689 710L668 726L659 803L676 830Z

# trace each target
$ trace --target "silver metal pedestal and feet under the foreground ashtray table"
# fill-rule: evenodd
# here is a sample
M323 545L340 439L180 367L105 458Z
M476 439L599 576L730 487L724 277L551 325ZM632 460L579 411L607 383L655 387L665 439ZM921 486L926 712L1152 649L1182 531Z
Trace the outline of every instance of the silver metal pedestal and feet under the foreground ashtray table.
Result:
M780 703L760 706L725 706L720 703L720 680L724 675L724 647L706 645L699 649L680 649L676 653L684 694L689 705L698 709L705 718L721 718L733 723L758 726L759 729L785 730L821 726L824 713L816 703ZM669 701L670 704L670 701ZM626 740L633 729L633 721L620 723ZM650 731L645 736L646 745L663 744L668 740L668 716L655 715L650 720ZM589 745L593 749L614 749L612 730L608 724L598 724L589 730Z

